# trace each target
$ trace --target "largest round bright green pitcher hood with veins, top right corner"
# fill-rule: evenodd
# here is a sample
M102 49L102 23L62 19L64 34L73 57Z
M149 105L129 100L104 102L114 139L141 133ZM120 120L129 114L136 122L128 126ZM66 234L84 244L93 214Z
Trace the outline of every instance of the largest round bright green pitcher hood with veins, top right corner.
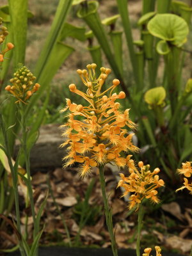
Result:
M157 14L147 25L148 31L170 44L180 47L183 45L189 33L187 22L175 14Z

